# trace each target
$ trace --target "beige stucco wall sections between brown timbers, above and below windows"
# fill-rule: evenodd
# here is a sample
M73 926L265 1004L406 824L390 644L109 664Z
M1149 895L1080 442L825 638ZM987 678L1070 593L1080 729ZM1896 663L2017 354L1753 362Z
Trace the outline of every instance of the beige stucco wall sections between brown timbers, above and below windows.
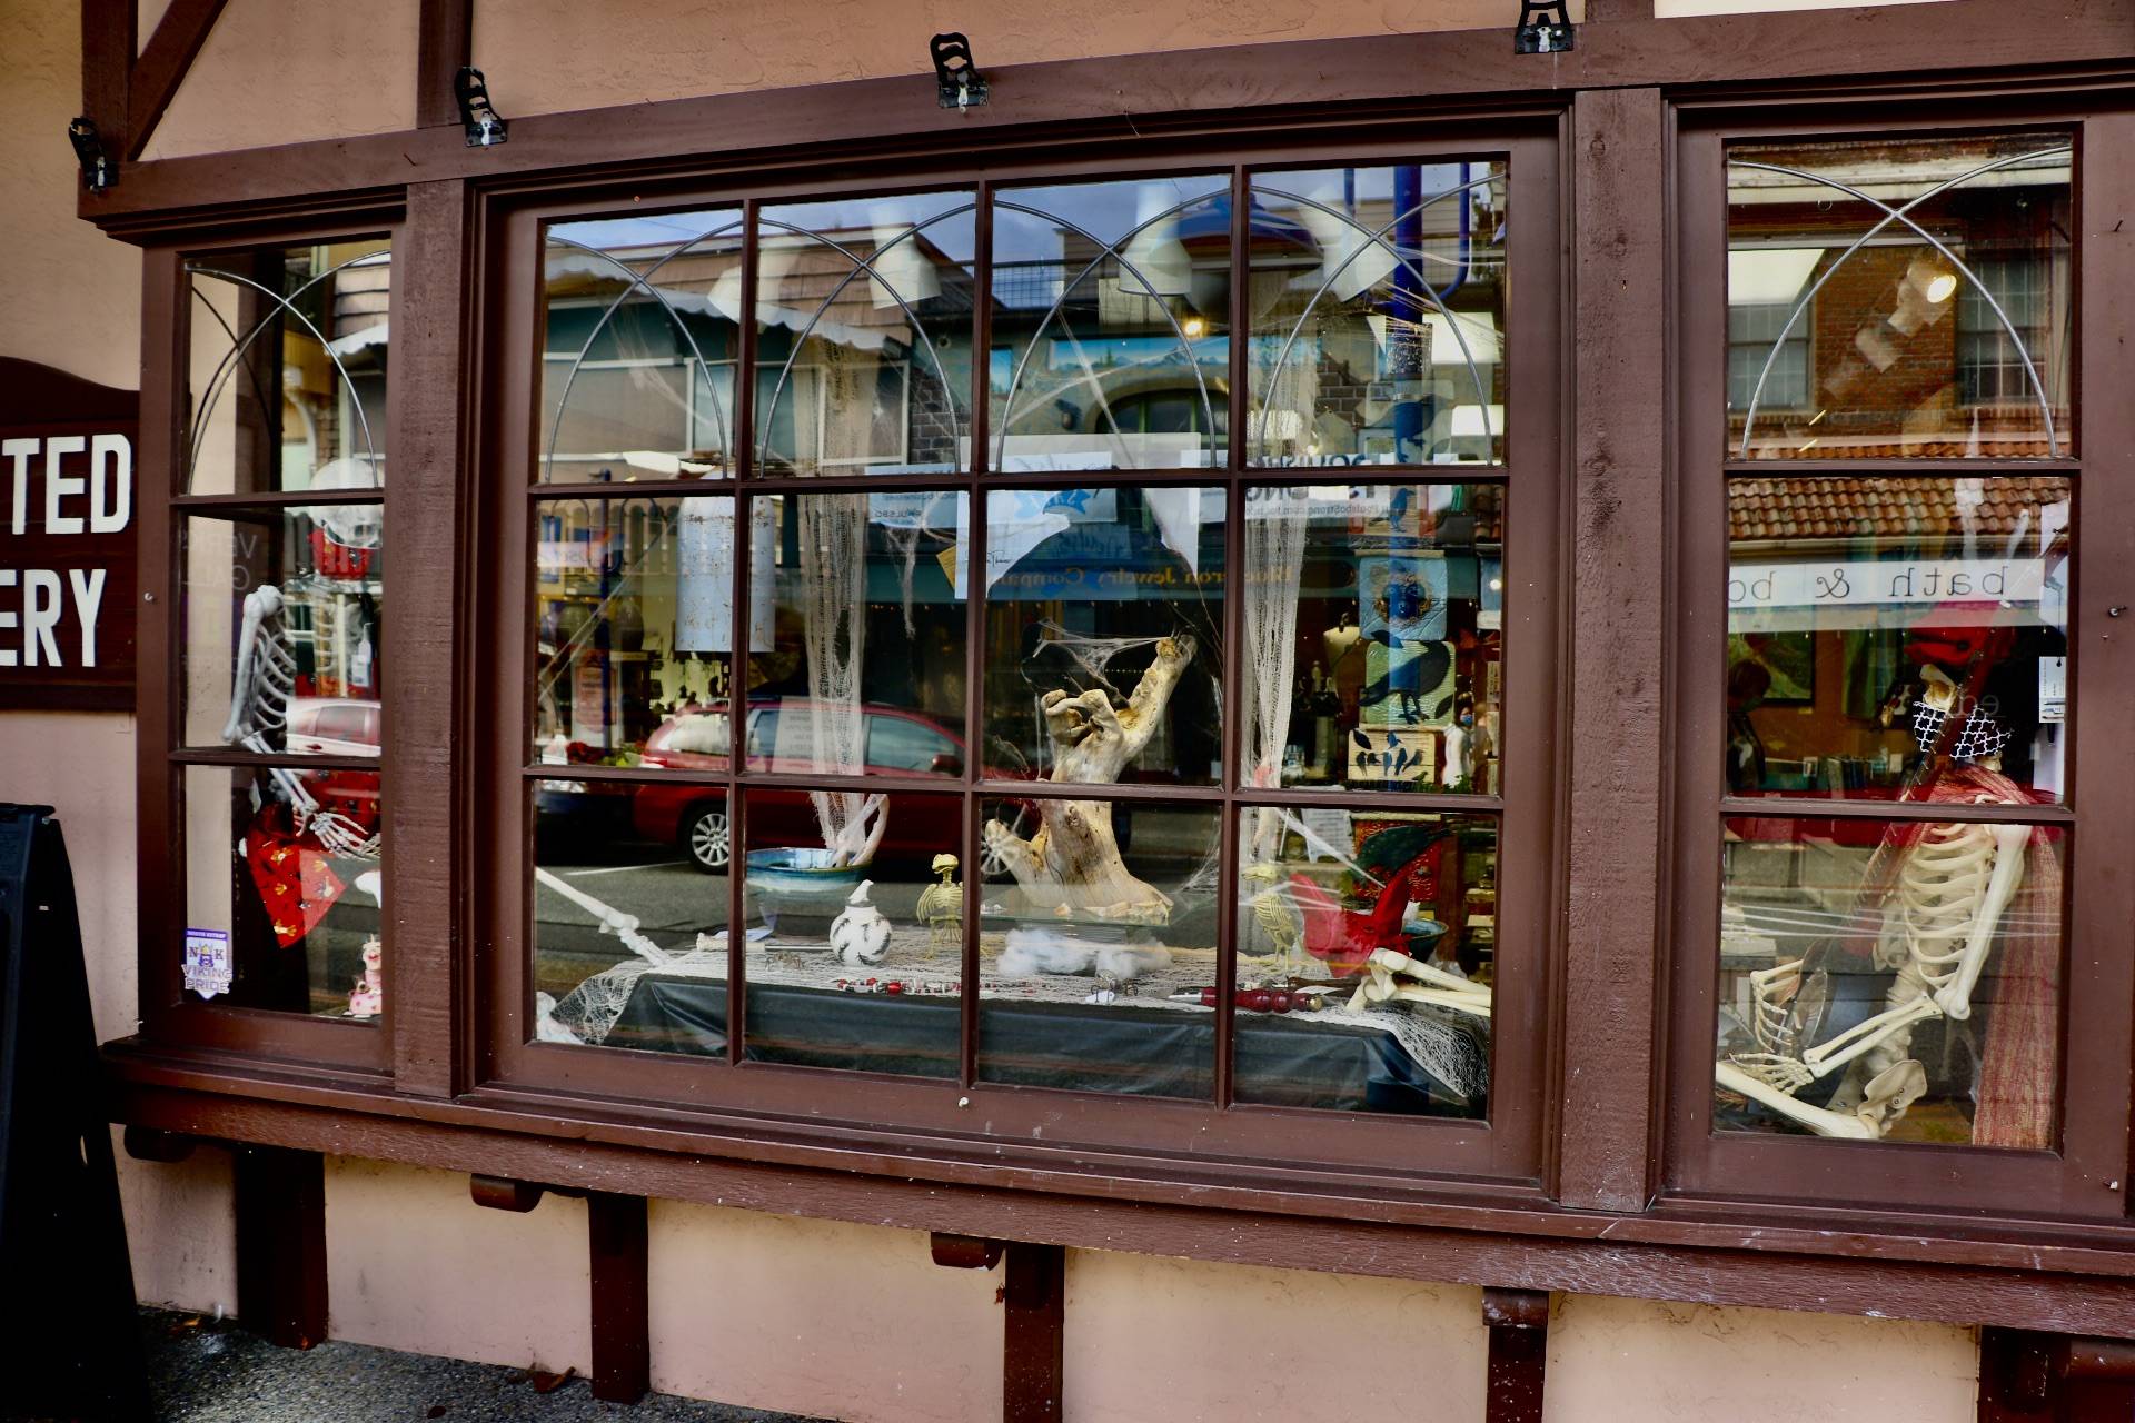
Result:
M1685 6L1691 0L1663 0ZM1766 0L1772 4L1774 0ZM1484 23L1509 2L1490 0ZM583 11L583 13L581 13ZM598 17L596 17L598 11ZM143 23L160 13L145 0ZM224 34L173 105L162 151L395 128L412 109L412 0L233 0ZM1426 0L1255 0L1243 9L1106 4L1072 17L956 15L897 0L790 11L726 0L568 6L485 0L478 43L504 113L747 83L813 83L924 64L963 26L982 62L1366 34L1452 23ZM79 109L79 17L0 0L0 352L132 388L139 258L75 220L64 141ZM346 17L344 17L346 15ZM348 19L357 17L357 19ZM1465 21L1462 21L1465 23ZM350 26L357 26L354 36ZM220 58L218 58L220 55ZM233 102L243 96L243 102ZM62 806L96 1024L135 998L132 721L0 715L0 798ZM122 1165L143 1299L235 1306L228 1161ZM907 1231L653 1205L653 1372L664 1389L869 1423L999 1417L999 1274L939 1269ZM585 1208L483 1212L465 1178L335 1161L327 1178L333 1329L342 1338L502 1363L585 1368ZM1473 1419L1484 1333L1473 1289L1076 1252L1068 1272L1068 1404L1076 1423ZM1971 1417L1968 1331L1764 1310L1559 1299L1550 1423Z

